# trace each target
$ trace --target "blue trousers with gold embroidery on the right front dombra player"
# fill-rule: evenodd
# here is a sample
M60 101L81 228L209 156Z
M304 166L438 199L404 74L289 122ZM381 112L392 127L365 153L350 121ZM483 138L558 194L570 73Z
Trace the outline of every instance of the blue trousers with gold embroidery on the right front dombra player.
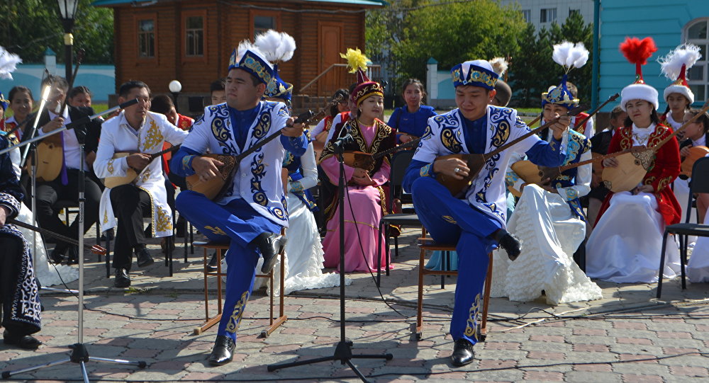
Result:
M416 214L430 236L439 244L456 245L458 280L450 335L454 341L464 338L475 344L488 253L497 246L491 236L502 224L467 200L454 198L435 178L418 178L411 193Z

